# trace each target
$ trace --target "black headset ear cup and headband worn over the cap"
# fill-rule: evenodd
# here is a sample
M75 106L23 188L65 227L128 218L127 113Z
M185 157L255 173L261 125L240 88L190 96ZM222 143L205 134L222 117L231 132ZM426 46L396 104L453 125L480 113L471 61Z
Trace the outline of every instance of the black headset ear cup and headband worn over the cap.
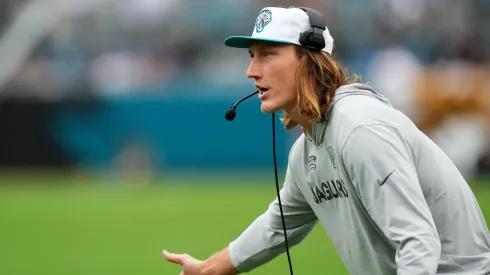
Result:
M299 42L301 45L307 48L321 50L325 48L325 38L323 32L325 31L325 17L319 11L314 9L302 7L308 17L310 18L311 30L301 34Z

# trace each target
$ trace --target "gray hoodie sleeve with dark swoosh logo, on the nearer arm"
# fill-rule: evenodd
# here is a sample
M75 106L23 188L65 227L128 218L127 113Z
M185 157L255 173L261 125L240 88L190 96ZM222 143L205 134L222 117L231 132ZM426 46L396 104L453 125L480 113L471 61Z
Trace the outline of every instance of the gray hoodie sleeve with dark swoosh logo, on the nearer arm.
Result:
M361 126L342 158L368 214L396 246L397 274L436 274L441 244L408 142L397 129Z

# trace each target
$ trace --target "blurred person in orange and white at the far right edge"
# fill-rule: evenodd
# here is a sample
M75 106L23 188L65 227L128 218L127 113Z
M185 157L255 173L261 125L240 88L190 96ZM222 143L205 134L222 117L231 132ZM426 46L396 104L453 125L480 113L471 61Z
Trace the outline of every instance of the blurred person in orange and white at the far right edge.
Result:
M490 148L490 69L475 33L446 40L436 63L414 82L423 114L417 123L469 179Z

